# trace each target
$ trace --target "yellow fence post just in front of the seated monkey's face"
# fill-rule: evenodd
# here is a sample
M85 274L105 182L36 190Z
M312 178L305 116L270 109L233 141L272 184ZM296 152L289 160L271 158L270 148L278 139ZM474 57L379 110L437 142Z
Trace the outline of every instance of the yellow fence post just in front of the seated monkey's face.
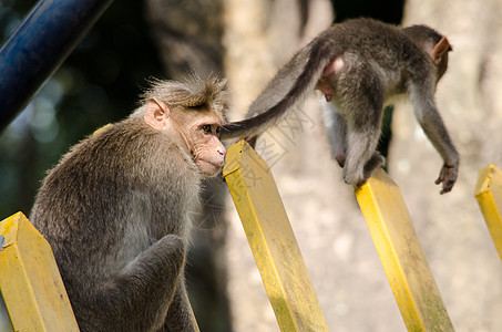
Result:
M244 141L223 172L281 331L328 331L272 172Z

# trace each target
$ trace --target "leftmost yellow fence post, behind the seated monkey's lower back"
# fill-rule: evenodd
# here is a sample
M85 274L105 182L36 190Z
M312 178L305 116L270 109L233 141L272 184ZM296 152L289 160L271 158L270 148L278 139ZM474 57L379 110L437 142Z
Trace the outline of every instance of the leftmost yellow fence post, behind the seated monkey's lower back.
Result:
M21 212L0 222L0 290L16 331L79 331L51 247Z

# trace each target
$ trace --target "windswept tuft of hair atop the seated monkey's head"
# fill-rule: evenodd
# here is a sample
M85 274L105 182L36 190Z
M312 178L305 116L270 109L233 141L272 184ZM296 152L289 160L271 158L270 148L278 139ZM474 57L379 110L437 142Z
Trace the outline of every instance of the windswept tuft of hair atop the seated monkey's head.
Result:
M228 108L226 80L216 75L202 79L197 74L186 76L183 81L150 79L150 89L141 95L141 104L156 98L171 107L185 107L201 112L215 111L222 118Z

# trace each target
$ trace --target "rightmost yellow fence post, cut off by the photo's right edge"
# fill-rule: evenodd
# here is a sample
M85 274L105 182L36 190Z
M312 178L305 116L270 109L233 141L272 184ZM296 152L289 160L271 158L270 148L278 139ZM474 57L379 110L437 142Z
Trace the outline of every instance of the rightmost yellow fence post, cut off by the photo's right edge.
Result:
M502 259L502 172L495 165L480 169L474 196Z

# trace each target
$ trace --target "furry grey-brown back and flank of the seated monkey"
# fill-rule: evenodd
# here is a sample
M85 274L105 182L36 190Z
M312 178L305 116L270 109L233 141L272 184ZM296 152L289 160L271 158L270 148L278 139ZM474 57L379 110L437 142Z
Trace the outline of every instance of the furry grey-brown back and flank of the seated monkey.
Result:
M163 236L187 237L184 216L197 204L199 178L183 174L186 158L127 118L73 146L49 173L30 220L51 245L72 301Z

